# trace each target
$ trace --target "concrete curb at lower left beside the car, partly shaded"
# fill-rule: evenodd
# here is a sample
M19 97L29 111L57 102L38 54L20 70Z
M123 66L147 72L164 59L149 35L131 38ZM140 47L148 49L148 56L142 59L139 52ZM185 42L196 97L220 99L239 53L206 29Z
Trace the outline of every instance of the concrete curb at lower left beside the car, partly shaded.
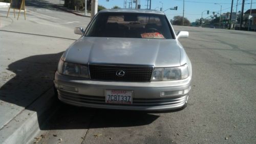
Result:
M59 108L51 87L0 130L0 143L28 143ZM53 108L51 108L53 107Z

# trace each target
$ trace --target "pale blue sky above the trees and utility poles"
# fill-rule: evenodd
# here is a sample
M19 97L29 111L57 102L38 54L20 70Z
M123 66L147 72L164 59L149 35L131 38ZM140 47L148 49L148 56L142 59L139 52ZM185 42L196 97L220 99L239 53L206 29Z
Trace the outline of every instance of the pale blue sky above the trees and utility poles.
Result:
M129 8L128 2L131 0L126 0L127 5L126 8ZM141 9L146 9L147 0L138 0L140 1ZM212 12L221 13L230 12L231 10L231 2L232 0L184 0L184 17L188 18L190 22L194 22L196 19L200 19L202 12L203 18L206 18L212 15ZM236 12L238 2L237 11L241 11L242 9L242 0L233 0L233 12ZM216 4L215 4L216 3ZM244 12L250 9L251 0L245 0ZM169 19L173 19L174 16L183 14L183 0L152 0L151 9L160 10L163 4L163 10L168 8L173 8L178 6L178 10L166 10L165 14ZM124 7L124 0L98 0L98 5L102 5L107 9L111 9L114 6L118 6L120 8ZM135 8L135 3L133 4L133 8ZM252 0L252 9L256 9L256 0ZM207 15L207 10L209 10L209 15Z

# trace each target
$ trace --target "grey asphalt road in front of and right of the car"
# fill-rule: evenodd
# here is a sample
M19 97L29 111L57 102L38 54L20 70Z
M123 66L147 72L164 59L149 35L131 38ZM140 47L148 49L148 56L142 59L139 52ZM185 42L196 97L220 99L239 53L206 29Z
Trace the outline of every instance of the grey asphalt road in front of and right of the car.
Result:
M61 105L39 143L255 143L256 33L175 27L193 64L188 107L147 113Z

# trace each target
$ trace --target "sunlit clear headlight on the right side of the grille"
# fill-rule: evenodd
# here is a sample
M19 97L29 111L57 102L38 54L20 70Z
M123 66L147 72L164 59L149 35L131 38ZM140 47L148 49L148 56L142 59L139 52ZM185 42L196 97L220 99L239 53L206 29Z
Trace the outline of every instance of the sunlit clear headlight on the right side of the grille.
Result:
M154 68L152 81L175 81L186 79L189 76L188 66Z

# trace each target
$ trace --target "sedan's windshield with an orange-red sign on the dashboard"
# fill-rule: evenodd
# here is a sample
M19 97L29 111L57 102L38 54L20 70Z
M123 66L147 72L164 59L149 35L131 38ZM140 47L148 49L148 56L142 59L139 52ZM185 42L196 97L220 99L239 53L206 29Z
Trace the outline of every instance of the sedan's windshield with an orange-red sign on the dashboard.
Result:
M99 13L86 36L173 39L165 15Z

